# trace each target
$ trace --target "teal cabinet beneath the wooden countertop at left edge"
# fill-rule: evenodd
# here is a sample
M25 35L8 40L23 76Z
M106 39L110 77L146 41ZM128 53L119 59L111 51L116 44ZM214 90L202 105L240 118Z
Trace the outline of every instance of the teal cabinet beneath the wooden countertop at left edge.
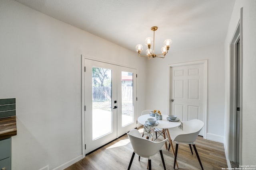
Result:
M11 138L0 140L0 170L11 170Z

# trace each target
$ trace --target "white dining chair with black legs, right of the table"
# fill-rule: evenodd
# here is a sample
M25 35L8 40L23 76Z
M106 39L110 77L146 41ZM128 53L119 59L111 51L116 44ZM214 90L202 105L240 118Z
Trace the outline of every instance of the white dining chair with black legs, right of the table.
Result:
M193 119L190 121L183 121L182 124L183 124L183 130L176 127L176 128L170 129L169 131L172 141L176 142L173 168L175 169L175 162L178 154L178 145L179 143L185 143L185 144L189 144L191 152L192 152L191 144L193 145L194 150L196 152L196 156L200 163L200 166L202 170L204 170L199 154L196 150L196 145L195 145L196 138L198 137L198 134L200 133L201 129L204 127L204 122L198 119ZM169 149L170 149L170 144L169 144Z

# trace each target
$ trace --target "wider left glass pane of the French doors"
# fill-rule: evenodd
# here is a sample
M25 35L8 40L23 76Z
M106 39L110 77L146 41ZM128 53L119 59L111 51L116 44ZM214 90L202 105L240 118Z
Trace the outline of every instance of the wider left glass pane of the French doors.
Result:
M112 132L112 70L92 67L92 139Z

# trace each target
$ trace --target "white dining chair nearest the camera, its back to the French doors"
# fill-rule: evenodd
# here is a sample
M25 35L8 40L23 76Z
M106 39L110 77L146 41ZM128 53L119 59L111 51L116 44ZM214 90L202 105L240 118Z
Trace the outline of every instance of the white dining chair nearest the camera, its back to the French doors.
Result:
M130 160L128 170L130 170L132 161L134 158L135 153L141 157L148 158L148 168L151 170L151 159L158 151L160 152L162 163L164 166L164 170L166 170L165 163L164 163L164 156L162 153L162 146L166 142L166 139L160 142L150 141L148 139L143 138L140 135L140 132L137 129L132 129L129 133L127 133L130 142L132 144L133 153L132 158Z

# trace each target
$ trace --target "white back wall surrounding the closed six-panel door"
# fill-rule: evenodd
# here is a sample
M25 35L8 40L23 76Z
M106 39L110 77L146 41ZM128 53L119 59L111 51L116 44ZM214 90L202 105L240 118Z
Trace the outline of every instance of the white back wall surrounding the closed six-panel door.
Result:
M210 40L209 40L210 41ZM174 42L175 43L175 42ZM224 137L224 43L187 49L148 61L146 106L168 114L168 64L208 60L207 139L223 142ZM150 92L150 93L149 93Z

